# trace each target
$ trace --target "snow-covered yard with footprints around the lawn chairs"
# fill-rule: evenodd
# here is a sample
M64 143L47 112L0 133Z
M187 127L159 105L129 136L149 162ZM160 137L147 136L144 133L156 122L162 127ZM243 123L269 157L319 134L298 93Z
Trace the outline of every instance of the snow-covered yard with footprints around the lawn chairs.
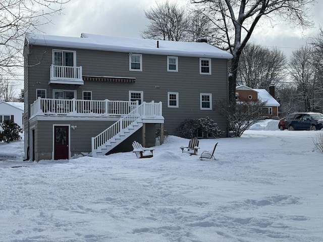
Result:
M181 153L170 136L154 156L0 161L0 241L323 241L323 131L265 120L241 138L200 140L217 160ZM0 159L22 159L22 142Z

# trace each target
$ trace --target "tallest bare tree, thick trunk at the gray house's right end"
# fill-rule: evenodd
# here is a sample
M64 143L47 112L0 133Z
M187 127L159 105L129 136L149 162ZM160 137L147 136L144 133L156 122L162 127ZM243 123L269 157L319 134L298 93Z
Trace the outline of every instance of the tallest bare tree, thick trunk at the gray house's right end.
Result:
M289 21L295 26L309 27L308 5L315 0L191 0L200 4L215 26L214 44L230 51L233 59L229 73L229 100L235 103L238 66L242 50L260 19Z

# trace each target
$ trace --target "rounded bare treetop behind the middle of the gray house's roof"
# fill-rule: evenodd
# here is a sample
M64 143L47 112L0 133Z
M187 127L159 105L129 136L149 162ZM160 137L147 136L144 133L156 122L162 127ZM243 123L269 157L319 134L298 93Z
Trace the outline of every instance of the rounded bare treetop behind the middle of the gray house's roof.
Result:
M143 38L182 41L185 40L188 30L188 18L184 8L176 3L166 2L157 4L156 8L145 11L150 21L142 31Z

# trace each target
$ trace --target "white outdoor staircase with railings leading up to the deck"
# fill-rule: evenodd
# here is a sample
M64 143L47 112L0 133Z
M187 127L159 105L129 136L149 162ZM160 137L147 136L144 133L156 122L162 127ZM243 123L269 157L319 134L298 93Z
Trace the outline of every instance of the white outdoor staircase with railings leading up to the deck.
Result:
M92 156L105 155L129 138L143 126L143 118L153 119L160 116L161 102L143 102L102 133L92 137Z

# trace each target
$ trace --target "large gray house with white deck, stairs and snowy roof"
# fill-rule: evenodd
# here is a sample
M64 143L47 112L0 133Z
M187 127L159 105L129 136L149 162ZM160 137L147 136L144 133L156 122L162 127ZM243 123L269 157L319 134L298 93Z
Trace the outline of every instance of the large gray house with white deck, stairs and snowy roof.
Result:
M227 130L212 109L228 98L231 57L205 42L27 36L25 158L130 151L134 140L150 147L157 130L175 134L187 118Z

